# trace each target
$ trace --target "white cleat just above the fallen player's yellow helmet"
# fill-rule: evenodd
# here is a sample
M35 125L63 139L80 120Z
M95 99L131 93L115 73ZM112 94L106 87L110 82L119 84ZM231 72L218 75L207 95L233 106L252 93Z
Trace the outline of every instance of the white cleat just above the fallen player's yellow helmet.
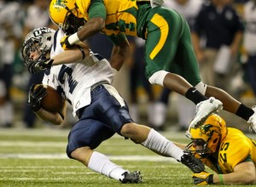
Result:
M203 122L207 120L207 117L210 116L213 112L218 112L223 109L223 104L220 100L213 97L201 101L196 105L196 115L194 119L190 122L190 127L199 127ZM256 120L256 116L255 116ZM256 127L256 121L255 121Z

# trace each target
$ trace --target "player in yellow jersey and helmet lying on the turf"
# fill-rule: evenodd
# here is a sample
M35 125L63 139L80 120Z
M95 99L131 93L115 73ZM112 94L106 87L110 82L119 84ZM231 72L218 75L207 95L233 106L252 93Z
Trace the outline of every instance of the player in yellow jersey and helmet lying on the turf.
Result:
M186 150L200 158L214 174L193 175L194 184L255 184L256 141L240 130L226 127L223 118L213 114L201 127L190 127L192 142Z

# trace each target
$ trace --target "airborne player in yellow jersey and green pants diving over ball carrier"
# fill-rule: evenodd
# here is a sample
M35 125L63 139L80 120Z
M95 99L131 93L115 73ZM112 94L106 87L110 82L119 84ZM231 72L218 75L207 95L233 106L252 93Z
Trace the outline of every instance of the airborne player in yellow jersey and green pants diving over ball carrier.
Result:
M248 108L224 90L201 82L189 26L176 11L160 7L162 3L163 0L52 0L49 16L55 24L62 24L64 30L75 24L74 16L86 22L79 31L61 38L64 49L100 31L107 35L114 44L112 56L119 56L112 61L118 67L128 54L125 35L145 39L148 81L182 94L197 105L190 126L202 124L224 104L224 110L241 116L256 131L256 108Z

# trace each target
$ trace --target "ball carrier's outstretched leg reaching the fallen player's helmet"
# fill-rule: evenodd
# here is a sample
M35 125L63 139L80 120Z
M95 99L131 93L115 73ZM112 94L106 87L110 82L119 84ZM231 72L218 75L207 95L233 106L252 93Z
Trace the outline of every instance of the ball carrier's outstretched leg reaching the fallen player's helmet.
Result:
M93 118L99 119L114 132L132 139L137 144L143 144L161 156L169 156L177 159L177 161L182 161L195 173L204 169L201 161L198 161L194 156L185 155L182 149L154 129L134 123L129 115L125 100L112 86L104 84L104 86L95 88L91 97L91 105L84 110L82 118L87 118L86 112L91 112L94 115Z

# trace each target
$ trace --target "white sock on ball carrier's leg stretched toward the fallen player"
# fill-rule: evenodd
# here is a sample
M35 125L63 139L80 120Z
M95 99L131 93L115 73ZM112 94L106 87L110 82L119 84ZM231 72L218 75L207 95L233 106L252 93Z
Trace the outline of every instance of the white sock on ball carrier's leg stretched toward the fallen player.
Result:
M166 139L160 133L157 133L153 128L148 133L148 139L143 143L143 146L147 147L149 150L159 153L163 156L171 156L177 161L181 160L183 156L183 150L173 144L172 141Z

